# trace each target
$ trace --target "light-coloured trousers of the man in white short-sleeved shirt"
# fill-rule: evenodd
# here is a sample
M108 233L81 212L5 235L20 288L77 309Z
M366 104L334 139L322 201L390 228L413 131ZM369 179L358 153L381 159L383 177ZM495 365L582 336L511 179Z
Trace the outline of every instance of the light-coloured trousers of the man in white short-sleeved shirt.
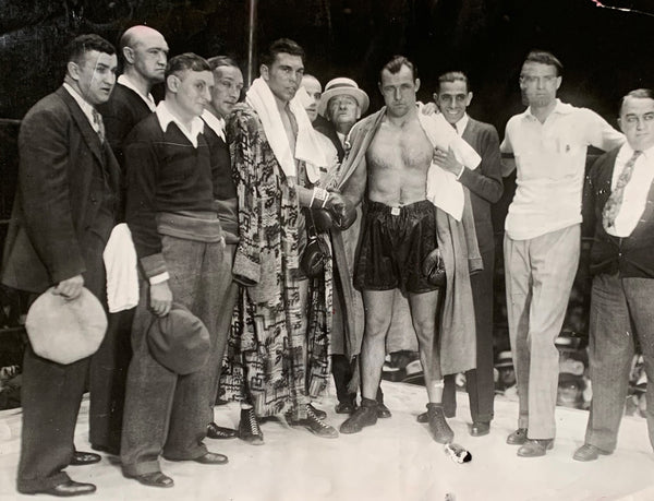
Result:
M507 315L518 383L519 428L530 439L556 434L560 333L581 244L580 225L528 239L505 236Z

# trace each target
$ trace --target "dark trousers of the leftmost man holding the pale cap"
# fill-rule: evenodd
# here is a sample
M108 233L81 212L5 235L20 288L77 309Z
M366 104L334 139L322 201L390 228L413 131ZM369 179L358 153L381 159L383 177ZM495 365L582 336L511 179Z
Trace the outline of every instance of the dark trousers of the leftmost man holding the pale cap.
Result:
M105 298L105 243L104 239L89 231L80 246L86 264L84 286L100 300ZM21 492L45 490L70 480L62 469L69 465L75 451L75 425L92 358L61 365L39 357L31 346L25 350L17 476Z

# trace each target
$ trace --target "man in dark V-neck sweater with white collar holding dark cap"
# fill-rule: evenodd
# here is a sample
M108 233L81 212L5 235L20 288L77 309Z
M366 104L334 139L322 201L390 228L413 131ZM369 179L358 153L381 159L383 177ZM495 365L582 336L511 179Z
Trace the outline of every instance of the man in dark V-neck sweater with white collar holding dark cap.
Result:
M157 334L161 325L159 331L155 325L166 315L178 315L179 303L204 323L210 347L216 344L225 238L214 205L214 165L199 118L213 86L211 68L199 56L170 59L166 99L125 141L126 222L142 284L132 327L134 356L128 373L121 462L125 476L152 487L173 485L161 473L159 455L170 461L227 463L226 456L208 452L202 442L213 421L206 395L215 373L193 355L202 330L192 322L173 321L161 338ZM184 337L184 350L166 349L173 346L166 336Z

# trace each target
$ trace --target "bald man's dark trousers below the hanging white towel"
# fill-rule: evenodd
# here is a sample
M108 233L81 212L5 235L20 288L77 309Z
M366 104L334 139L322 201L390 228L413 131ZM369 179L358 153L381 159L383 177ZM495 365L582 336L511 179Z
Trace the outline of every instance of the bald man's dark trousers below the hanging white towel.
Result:
M109 313L107 335L90 362L88 428L90 443L120 451L128 369L132 359L135 308Z

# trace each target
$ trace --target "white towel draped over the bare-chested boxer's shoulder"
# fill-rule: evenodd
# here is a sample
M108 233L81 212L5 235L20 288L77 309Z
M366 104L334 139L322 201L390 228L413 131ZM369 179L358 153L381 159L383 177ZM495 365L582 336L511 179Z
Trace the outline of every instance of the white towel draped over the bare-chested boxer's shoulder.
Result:
M419 105L419 107L422 106ZM417 118L435 148L447 152L451 147L457 162L469 169L474 170L477 168L482 157L465 140L457 134L457 131L443 115L424 115L419 109ZM427 200L455 219L461 220L463 204L465 203L463 186L457 180L457 176L443 169L434 162L432 162L427 171Z

